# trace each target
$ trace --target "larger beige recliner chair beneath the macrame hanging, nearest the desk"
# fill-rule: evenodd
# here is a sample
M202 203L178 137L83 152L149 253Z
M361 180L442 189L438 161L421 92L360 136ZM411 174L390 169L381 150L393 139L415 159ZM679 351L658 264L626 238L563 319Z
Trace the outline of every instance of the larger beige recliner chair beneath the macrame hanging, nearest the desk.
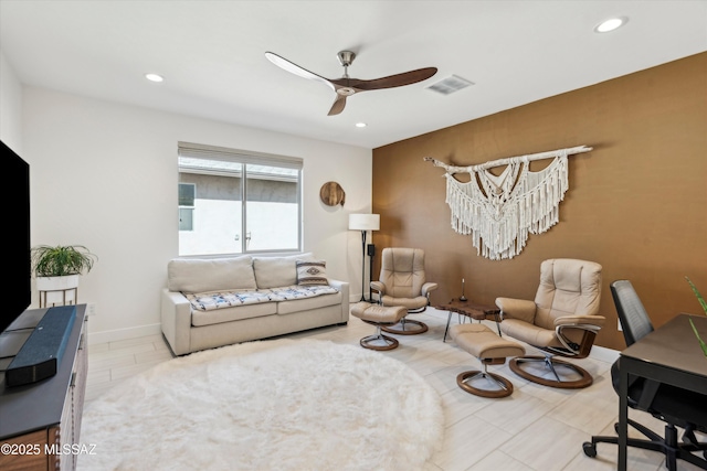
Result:
M581 388L592 384L583 368L555 355L584 358L605 318L598 315L601 298L601 265L558 258L540 265L540 286L535 301L496 298L503 333L542 350L545 356L520 356L510 361L517 375L546 386ZM525 363L544 363L531 373ZM573 377L561 377L557 366L573 370ZM537 368L536 368L537 370ZM579 377L578 377L579 376Z

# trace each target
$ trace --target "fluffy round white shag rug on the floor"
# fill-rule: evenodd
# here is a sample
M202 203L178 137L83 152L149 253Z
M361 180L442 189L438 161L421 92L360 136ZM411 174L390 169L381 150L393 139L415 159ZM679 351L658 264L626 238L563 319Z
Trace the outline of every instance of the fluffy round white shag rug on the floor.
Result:
M175 358L87 405L85 470L416 470L441 447L440 395L382 352L251 342Z

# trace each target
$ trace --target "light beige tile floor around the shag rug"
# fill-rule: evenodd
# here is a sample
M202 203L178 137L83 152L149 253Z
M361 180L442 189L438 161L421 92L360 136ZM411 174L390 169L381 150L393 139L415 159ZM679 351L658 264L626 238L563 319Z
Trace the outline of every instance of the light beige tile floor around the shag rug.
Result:
M553 389L526 382L508 365L492 366L514 384L514 394L487 399L464 393L456 375L478 368L478 361L460 350L454 341L442 342L447 313L428 309L414 314L430 330L421 335L398 336L400 346L381 355L398 358L425 377L442 397L446 431L442 450L425 471L601 471L616 469L616 447L599 445L598 457L588 458L582 442L592 435L614 435L619 399L611 387L610 363L594 358L581 365L594 383L579 390ZM452 322L457 321L456 315ZM494 329L495 325L490 324ZM338 343L358 344L373 328L351 318L346 327L316 329L288 335ZM528 349L529 352L530 349ZM172 357L161 335L89 345L86 400L91 402L123 379ZM631 410L630 416L662 433L663 422L647 414ZM634 433L632 433L634 435ZM639 435L635 435L639 436ZM704 438L704 437L698 437ZM629 450L629 469L665 469L661 453ZM698 470L678 461L678 470Z

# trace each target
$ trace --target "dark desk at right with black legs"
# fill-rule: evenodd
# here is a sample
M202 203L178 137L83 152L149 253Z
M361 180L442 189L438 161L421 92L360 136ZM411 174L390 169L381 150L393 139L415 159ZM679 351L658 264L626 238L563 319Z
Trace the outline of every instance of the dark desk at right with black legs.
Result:
M626 469L629 374L707 395L707 357L689 324L679 314L621 352L619 387L619 471ZM707 317L692 315L707 339Z

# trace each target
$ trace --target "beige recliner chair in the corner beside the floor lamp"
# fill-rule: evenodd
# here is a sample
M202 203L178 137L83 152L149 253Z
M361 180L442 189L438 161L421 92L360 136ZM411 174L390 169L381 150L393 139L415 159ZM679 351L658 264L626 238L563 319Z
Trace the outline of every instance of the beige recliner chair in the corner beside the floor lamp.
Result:
M424 250L420 248L389 247L381 254L380 277L371 281L371 289L379 295L381 306L402 306L408 314L424 311L430 304L430 292L437 283L428 282L424 272ZM428 331L428 325L403 317L383 331L414 335Z

